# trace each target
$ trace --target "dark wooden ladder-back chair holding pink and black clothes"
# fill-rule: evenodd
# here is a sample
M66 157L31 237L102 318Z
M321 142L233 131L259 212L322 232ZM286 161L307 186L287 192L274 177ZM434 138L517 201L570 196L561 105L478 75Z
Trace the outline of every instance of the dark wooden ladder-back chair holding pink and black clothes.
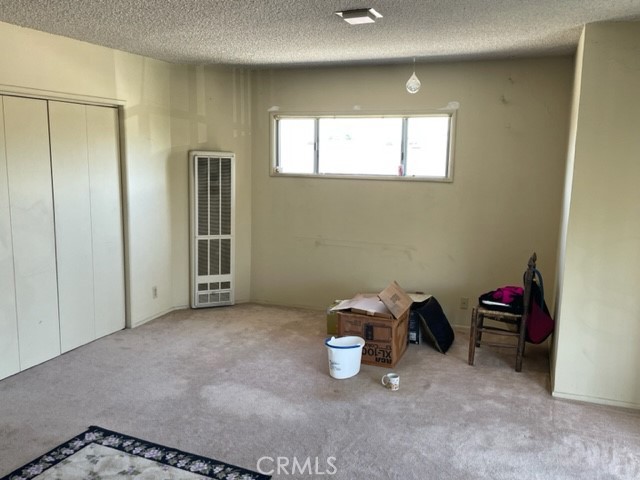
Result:
M515 348L516 372L522 370L522 357L524 356L524 344L527 332L527 319L531 304L531 284L533 283L537 256L534 252L529 258L527 270L524 274L523 310L521 314L492 310L482 305L474 307L471 312L471 332L469 335L469 365L473 365L476 347L488 345L491 347ZM485 320L493 320L505 324L505 326L485 325ZM482 340L484 332L507 337L517 337L517 344L493 343Z

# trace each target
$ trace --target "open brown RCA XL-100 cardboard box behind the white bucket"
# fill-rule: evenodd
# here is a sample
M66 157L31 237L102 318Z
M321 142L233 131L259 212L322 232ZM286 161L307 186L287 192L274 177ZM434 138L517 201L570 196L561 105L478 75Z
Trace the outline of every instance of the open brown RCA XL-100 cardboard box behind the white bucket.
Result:
M407 350L411 298L393 282L377 296L360 294L333 307L338 335L365 339L362 363L393 368Z

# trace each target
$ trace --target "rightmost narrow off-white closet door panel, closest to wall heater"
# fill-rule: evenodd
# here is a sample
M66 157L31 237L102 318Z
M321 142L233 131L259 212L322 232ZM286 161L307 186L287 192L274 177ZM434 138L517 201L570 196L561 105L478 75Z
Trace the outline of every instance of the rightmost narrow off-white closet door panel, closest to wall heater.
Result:
M96 336L125 326L118 112L86 107Z

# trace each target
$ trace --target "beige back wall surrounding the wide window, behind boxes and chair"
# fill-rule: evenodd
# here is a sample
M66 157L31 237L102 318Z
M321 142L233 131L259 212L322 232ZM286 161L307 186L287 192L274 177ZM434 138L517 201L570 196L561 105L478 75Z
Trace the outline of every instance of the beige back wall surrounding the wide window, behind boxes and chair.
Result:
M253 94L252 299L321 308L391 280L468 324L521 282L532 251L553 298L573 60L265 70ZM269 109L407 111L460 103L453 183L269 176Z

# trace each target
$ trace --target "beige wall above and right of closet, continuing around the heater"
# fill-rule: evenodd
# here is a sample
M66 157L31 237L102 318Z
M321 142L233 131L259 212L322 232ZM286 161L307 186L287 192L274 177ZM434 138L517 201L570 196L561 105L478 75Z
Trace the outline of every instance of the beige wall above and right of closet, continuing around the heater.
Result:
M247 301L251 170L245 73L171 65L5 23L0 44L2 92L123 106L129 323L189 303L190 149L238 154L236 298Z

